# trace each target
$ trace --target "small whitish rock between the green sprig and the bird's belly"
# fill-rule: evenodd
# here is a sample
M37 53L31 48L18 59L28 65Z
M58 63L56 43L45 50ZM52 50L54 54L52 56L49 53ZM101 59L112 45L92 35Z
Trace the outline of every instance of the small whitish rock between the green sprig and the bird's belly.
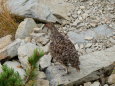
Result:
M48 67L51 65L51 55L48 54L48 55L44 55L41 59L40 59L40 66L42 69Z

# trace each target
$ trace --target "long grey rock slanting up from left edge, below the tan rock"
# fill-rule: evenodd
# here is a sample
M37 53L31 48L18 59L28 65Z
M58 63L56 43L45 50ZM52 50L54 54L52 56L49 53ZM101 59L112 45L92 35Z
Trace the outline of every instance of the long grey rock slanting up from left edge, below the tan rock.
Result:
M17 49L19 48L21 44L21 40L17 39L5 48L0 50L0 60L5 59L6 57L13 58L18 55Z

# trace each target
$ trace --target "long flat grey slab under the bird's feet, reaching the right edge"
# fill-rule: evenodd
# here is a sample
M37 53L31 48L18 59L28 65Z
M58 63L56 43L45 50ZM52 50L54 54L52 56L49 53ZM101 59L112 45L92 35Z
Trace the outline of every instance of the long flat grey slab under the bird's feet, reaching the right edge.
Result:
M51 86L57 86L57 84L73 86L73 84L78 85L83 82L97 80L100 78L99 75L103 73L103 70L111 71L113 69L114 55L115 46L107 50L80 56L80 72L77 72L75 68L71 68L71 73L64 76L66 73L65 67L56 64L47 68L46 75L48 80L50 80Z

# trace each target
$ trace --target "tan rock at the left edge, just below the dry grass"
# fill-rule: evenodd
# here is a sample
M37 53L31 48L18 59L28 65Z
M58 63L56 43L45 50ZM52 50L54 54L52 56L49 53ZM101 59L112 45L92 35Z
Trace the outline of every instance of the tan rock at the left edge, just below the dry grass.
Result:
M7 35L5 37L0 38L0 49L3 49L4 47L12 43L11 38L11 35Z

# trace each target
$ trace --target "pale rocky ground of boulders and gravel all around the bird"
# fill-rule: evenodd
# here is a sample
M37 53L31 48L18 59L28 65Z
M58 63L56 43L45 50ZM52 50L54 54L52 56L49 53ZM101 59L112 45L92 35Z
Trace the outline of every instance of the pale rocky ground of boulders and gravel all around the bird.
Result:
M45 22L62 23L56 26L79 51L81 71L70 68L71 74L63 76L63 65L51 63L50 31L44 27L44 22L36 23L32 18L25 18L20 23L14 41L11 40L11 35L0 38L1 64L4 63L3 59L17 57L18 60L5 61L4 64L14 68L24 79L25 69L29 66L28 57L34 49L40 48L44 50L45 55L38 62L41 70L38 71L40 76L37 78L37 86L115 86L115 0L50 0L55 6L47 1L48 7L52 10L40 5L45 3L43 1L35 4L36 0L28 0L22 4L22 0L20 4L12 5L18 2L13 1L10 2L12 13ZM18 5L20 8L17 8ZM69 9L65 10L64 6L68 6ZM39 11L43 15L38 14ZM23 68L19 68L18 65Z

